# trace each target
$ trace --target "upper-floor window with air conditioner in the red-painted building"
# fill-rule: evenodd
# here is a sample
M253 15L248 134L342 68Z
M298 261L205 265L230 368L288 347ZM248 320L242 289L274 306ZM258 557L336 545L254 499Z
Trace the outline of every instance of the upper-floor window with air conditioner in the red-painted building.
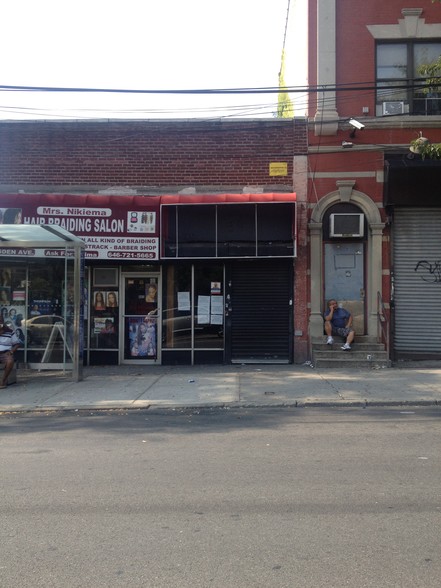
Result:
M436 61L441 41L377 44L377 116L441 114L441 92L414 88L418 68Z

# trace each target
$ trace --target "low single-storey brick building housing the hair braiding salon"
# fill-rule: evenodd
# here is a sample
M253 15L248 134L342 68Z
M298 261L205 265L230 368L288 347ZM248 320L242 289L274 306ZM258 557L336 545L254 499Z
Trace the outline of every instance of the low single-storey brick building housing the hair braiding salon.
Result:
M3 222L86 242L85 363L306 359L306 139L304 119L0 123ZM3 256L38 364L69 321L62 260Z

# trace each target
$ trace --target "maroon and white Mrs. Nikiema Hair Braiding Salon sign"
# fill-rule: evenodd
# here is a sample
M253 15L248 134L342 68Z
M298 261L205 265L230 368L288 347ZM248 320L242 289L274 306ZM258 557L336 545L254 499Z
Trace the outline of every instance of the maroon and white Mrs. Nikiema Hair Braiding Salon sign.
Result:
M86 243L86 260L157 260L159 200L156 196L0 194L0 223L60 226ZM22 254L26 256L24 250ZM54 257L64 251L32 250L27 255Z

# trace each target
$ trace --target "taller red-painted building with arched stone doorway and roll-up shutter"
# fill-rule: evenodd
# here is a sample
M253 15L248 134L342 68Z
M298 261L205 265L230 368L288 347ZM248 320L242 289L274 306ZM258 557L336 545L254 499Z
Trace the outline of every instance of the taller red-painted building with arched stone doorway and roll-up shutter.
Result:
M394 359L440 357L439 161L409 151L441 142L441 96L419 66L441 55L431 0L310 0L310 333L326 300L377 335L377 300Z

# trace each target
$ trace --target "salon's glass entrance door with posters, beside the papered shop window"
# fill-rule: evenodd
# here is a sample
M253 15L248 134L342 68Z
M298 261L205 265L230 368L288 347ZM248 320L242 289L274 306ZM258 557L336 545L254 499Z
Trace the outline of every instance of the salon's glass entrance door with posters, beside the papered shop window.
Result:
M158 363L159 274L123 275L121 363Z

